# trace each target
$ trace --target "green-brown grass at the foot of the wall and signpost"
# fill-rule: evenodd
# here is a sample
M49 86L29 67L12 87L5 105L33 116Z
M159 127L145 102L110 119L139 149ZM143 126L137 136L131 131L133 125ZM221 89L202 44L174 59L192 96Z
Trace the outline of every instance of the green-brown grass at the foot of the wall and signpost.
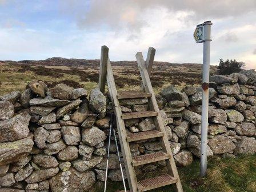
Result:
M223 159L209 158L207 177L199 175L199 159L187 167L179 167L183 190L185 192L255 192L256 191L256 155ZM108 192L123 189L121 182L110 182ZM101 188L97 191L102 191ZM175 191L173 186L151 190L151 192Z

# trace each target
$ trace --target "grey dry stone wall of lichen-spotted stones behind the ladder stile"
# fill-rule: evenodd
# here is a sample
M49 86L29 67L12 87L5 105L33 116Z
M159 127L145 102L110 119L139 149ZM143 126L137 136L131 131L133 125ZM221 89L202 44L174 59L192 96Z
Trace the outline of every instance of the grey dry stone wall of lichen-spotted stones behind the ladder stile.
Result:
M210 77L207 155L234 158L256 152L256 73ZM187 166L200 156L201 87L156 95L174 159ZM145 111L147 99L122 99L123 113ZM0 191L94 191L105 180L111 103L97 88L42 81L0 97ZM182 114L182 118L180 118ZM152 118L127 119L127 134L154 130ZM133 157L161 151L158 139L130 143ZM121 181L117 148L110 143L109 175ZM165 162L136 167L165 170ZM126 177L126 175L125 175Z

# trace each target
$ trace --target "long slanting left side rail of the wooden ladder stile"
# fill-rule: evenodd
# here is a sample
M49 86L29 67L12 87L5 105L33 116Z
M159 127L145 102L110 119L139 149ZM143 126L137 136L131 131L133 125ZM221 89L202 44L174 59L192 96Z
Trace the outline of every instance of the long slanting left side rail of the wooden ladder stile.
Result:
M137 178L134 167L131 165L130 146L129 143L126 142L127 135L125 130L125 123L121 118L122 111L117 99L117 88L115 87L113 71L109 58L107 60L107 86L109 87L109 94L115 112L115 117L117 119L118 136L123 154L123 161L125 162L125 170L129 182L130 191L137 192Z

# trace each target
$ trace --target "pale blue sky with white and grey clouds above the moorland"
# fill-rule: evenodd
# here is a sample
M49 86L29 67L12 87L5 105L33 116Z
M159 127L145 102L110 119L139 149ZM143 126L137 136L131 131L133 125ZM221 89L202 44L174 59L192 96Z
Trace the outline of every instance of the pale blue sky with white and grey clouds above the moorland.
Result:
M50 57L202 63L195 26L211 21L211 65L237 59L256 69L255 0L0 0L0 60Z

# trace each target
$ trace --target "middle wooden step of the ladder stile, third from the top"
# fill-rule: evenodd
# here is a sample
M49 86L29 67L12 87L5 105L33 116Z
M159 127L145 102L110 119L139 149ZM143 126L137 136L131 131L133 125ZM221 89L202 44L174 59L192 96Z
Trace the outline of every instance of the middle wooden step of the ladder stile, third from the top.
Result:
M133 141L140 141L143 139L151 139L151 138L157 138L157 137L163 137L163 133L157 130L143 131L143 132L127 135L126 141L133 142Z

